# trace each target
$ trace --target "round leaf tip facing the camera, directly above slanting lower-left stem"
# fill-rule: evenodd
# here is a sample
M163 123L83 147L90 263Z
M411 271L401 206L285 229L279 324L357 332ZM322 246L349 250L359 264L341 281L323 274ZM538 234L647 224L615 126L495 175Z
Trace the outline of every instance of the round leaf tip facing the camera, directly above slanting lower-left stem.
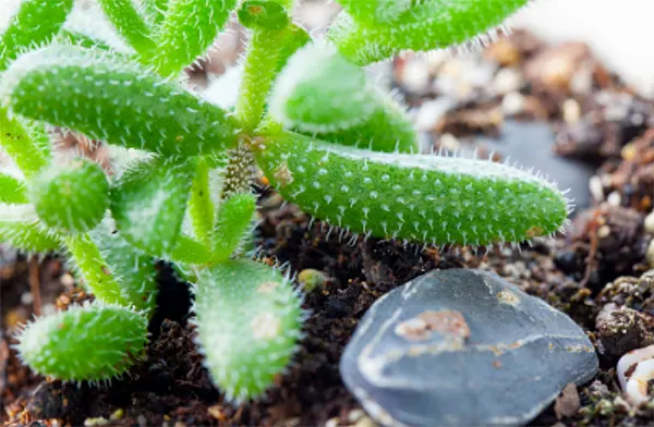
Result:
M51 164L29 186L29 197L41 221L61 232L80 233L95 228L109 206L105 172L82 158Z

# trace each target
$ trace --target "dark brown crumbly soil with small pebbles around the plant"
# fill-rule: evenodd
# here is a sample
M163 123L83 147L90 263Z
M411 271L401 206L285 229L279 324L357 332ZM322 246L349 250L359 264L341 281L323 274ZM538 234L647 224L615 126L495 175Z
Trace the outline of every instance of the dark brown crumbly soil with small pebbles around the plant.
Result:
M26 259L0 249L2 423L373 426L338 370L359 319L379 296L416 276L468 267L495 271L564 310L596 345L601 371L595 380L566 388L532 425L653 425L654 407L637 410L627 403L615 366L626 352L654 343L654 273L645 274L654 266L654 106L623 87L582 45L547 47L518 33L484 51L483 58L516 70L524 81L512 90L522 97L520 108L507 109L508 94L474 89L469 99L455 99L456 108L428 124L426 133L436 148L449 149L465 146L474 135L501 133L509 114L549 122L558 135L553 147L558 155L596 168L589 183L592 206L576 213L566 235L487 253L350 236L339 241L327 224L312 221L261 186L263 221L256 243L263 259L286 263L293 272L319 270L327 281L306 295L304 307L312 314L287 375L264 399L240 406L225 402L213 387L187 322L189 288L164 264L159 308L143 364L100 388L35 376L11 349L16 326L35 313L65 309L93 296L76 288L60 258ZM426 71L416 71L415 63L408 66L411 61L400 59L391 71L407 102L420 111L426 100L446 96L432 82L443 76L447 64L423 61L419 65ZM416 72L426 72L426 85L415 84L411 73ZM583 78L585 86L579 83ZM501 157L500 152L496 159ZM627 320L611 315L620 307L621 313L628 310Z

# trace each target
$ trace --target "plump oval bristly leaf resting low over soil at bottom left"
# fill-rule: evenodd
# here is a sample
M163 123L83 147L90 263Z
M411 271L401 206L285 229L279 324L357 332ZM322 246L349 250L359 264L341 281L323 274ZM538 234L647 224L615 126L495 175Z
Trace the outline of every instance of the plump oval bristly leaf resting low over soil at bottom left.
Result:
M40 375L107 380L138 361L147 342L147 318L117 305L72 306L36 319L16 338L19 355Z

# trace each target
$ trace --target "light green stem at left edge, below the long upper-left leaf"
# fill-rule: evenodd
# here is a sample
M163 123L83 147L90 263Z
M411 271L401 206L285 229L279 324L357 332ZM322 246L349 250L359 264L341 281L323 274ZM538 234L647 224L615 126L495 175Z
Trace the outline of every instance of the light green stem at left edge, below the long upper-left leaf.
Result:
M9 112L2 107L0 107L0 146L27 179L50 162L50 141L46 131L39 125L10 118Z

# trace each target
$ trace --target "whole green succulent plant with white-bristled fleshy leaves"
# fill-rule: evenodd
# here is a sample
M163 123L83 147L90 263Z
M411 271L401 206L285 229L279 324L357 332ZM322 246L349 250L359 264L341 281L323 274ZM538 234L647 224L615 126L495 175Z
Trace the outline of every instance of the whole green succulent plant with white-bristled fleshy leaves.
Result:
M165 259L192 282L216 385L232 400L270 387L303 310L289 276L249 251L256 166L289 202L353 235L493 245L566 220L567 199L538 175L417 154L404 110L361 68L470 40L525 1L343 0L322 40L293 23L291 0L98 1L132 53L61 30L63 0L24 1L0 37L0 143L22 172L0 174L0 241L64 253L96 296L19 334L44 375L106 380L136 363ZM250 32L233 110L183 74L230 15ZM125 156L111 174L63 158L50 126Z

